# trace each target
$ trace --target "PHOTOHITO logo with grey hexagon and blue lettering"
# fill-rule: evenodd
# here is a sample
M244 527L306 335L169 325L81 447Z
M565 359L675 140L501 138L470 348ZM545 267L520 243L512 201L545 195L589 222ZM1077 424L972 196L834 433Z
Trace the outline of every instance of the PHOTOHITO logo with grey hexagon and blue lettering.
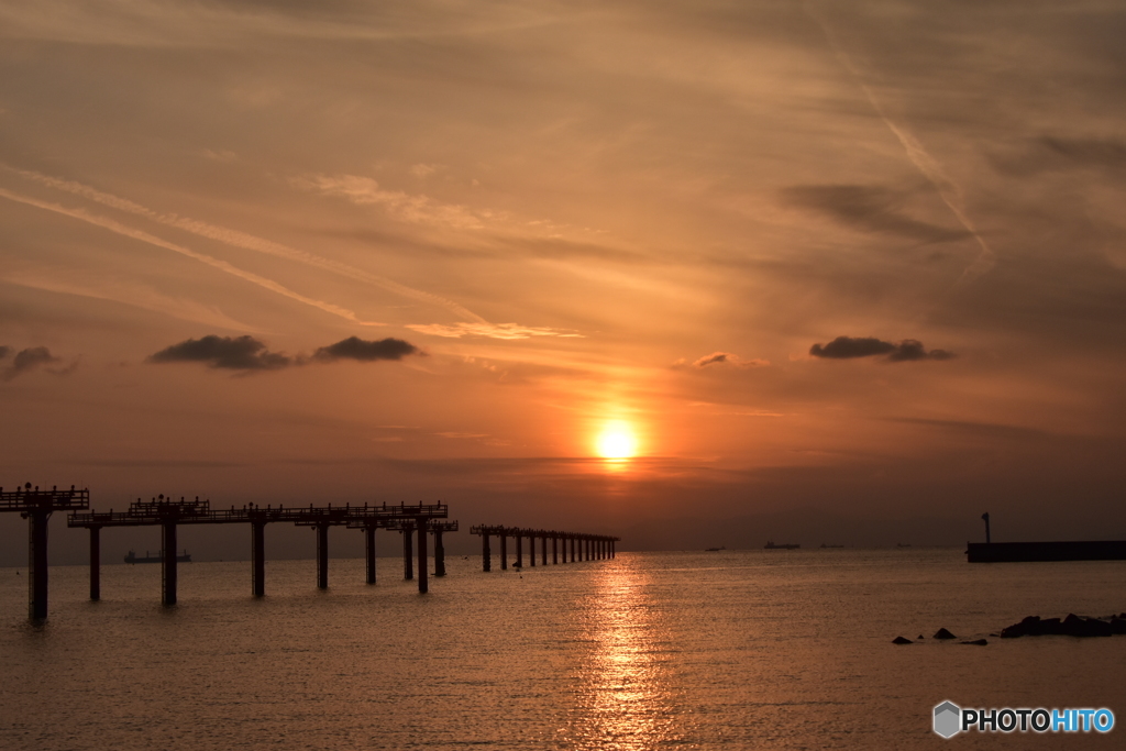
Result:
M1115 726L1110 709L963 709L953 701L935 707L935 732L942 737L976 730L978 733L1109 733Z

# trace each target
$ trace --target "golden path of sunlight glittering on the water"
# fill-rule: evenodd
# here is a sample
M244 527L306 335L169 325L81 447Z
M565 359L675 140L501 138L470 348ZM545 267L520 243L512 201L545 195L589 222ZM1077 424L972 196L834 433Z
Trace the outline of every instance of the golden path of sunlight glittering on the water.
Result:
M683 741L670 680L672 640L644 570L615 561L597 578L586 609L593 655L569 736L581 749L641 751Z

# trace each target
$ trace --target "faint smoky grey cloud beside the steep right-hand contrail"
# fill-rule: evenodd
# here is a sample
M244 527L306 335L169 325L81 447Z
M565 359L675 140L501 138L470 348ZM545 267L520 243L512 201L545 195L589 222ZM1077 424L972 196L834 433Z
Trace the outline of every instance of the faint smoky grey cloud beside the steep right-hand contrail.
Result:
M911 218L899 211L899 197L886 188L863 185L808 185L783 190L789 204L811 208L861 230L896 234L921 242L948 242L971 236L964 227L950 229Z

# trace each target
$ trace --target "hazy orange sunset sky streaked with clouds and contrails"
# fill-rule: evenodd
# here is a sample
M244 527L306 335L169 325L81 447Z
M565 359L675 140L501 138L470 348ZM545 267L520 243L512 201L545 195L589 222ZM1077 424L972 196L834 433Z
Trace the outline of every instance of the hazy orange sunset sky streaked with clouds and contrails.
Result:
M0 484L1123 538L1124 37L1082 0L0 0Z

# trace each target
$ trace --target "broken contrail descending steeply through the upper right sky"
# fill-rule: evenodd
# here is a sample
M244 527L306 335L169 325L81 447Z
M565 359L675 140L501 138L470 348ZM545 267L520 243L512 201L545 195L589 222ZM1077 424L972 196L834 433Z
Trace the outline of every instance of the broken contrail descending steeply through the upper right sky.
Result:
M935 186L935 190L938 191L942 203L946 204L947 208L949 208L950 212L957 217L962 226L964 226L966 231L974 236L974 240L976 240L977 244L981 247L981 252L977 254L977 258L975 258L974 261L962 271L962 276L955 283L955 286L957 287L972 281L989 271L997 263L997 253L993 252L993 249L989 247L989 243L986 243L981 236L981 233L977 232L977 227L974 226L974 223L968 216L966 216L965 208L962 204L962 189L949 178L949 176L946 175L941 166L935 161L927 150L923 149L918 138L896 125L895 122L887 116L883 105L879 104L876 95L872 91L868 84L865 83L860 71L852 64L851 59L849 59L849 56L844 53L843 47L841 47L840 43L837 41L837 36L833 34L832 29L829 28L829 24L814 12L811 5L807 2L802 3L802 10L821 28L821 33L825 35L825 41L829 43L829 46L837 56L837 60L849 73L852 74L852 78L856 79L857 86L860 87L860 90L864 91L864 95L868 98L868 102L872 105L872 108L876 110L879 118L884 120L884 125L886 125L887 128L895 134L895 137L899 138L900 144L906 152L908 159L911 160L911 163L915 166L915 169L918 169L932 186Z

